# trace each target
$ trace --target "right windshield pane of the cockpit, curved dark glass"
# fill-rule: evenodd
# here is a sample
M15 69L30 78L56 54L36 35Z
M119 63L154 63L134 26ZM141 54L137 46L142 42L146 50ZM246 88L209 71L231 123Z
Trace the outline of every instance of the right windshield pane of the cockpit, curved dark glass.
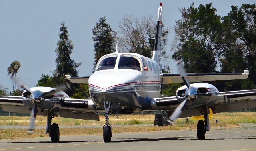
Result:
M140 71L140 62L131 55L121 55L118 63L119 69L133 69Z

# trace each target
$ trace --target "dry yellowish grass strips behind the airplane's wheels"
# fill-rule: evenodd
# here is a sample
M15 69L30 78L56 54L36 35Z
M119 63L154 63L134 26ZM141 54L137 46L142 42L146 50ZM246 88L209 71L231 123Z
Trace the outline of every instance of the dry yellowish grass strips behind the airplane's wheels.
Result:
M128 118L128 119L126 119ZM113 133L121 132L145 132L145 131L161 131L161 130L186 130L196 129L198 119L188 118L177 119L171 126L145 126L145 127L115 127ZM215 123L218 120L218 124ZM203 120L203 119L202 119ZM59 125L104 125L105 118L100 116L100 121L78 120L69 118L56 117L52 123ZM153 124L154 115L119 115L110 116L110 124L112 125L133 125L133 124ZM256 112L234 112L234 113L219 113L214 114L210 119L210 127L238 127L239 123L256 123ZM0 125L28 125L29 117L8 117L0 116ZM46 126L46 117L36 117L37 126ZM60 135L87 135L87 134L102 134L102 128L62 128ZM0 139L12 138L28 138L28 137L48 137L45 134L45 129L36 129L33 134L28 134L27 129L0 129Z

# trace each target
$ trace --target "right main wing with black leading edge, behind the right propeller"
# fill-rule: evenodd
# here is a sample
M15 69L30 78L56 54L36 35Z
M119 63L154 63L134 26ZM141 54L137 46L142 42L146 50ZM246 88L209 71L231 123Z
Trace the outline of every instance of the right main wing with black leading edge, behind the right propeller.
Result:
M230 92L220 92L217 96L223 96L224 100L214 100L212 103L212 112L230 112L245 108L256 108L256 90L240 90ZM166 98L154 98L154 110L166 110L169 115L174 112L177 106L182 102L176 96ZM202 115L201 108L206 104L186 105L179 118Z

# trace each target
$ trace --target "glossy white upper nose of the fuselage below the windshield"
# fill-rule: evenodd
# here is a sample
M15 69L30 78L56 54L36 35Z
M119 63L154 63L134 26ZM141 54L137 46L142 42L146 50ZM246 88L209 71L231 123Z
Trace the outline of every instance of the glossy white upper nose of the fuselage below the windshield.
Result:
M142 73L140 71L97 71L89 78L90 90L91 88L98 91L106 92L117 86L124 86L139 81Z

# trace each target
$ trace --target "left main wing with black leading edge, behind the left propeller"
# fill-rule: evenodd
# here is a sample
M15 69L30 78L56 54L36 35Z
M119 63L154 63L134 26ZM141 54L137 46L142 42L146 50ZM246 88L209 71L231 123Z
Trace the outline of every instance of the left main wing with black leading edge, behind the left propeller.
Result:
M51 108L51 110L56 110L60 117L84 120L100 120L98 113L95 112L96 106L90 99L53 99L45 103L50 102L54 102L54 106ZM33 106L29 99L22 96L0 96L0 105L2 105L3 111L27 114L30 114ZM38 115L47 116L47 110L40 108L38 108L38 110Z

